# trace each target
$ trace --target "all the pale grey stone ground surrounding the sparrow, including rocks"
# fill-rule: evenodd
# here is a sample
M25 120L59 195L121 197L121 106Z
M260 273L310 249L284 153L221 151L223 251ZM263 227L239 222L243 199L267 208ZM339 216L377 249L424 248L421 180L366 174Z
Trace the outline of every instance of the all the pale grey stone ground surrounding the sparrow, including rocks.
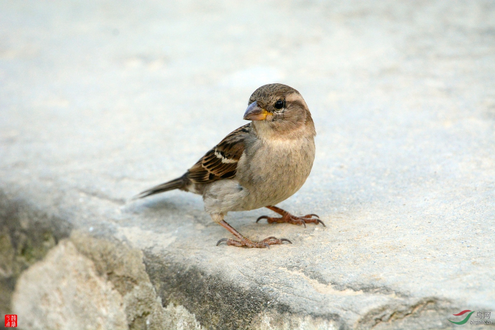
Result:
M199 196L129 201L272 82L301 92L318 133L280 206L326 228L231 213L294 244L217 247L230 236ZM73 330L443 329L495 312L494 91L494 1L2 1L1 313Z

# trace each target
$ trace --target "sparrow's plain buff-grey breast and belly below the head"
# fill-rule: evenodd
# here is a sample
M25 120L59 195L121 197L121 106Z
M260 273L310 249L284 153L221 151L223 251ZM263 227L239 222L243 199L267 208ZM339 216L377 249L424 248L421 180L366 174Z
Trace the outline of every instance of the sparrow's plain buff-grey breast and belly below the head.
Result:
M238 166L237 178L249 191L246 209L275 205L292 196L306 181L314 160L314 142L260 141ZM251 156L251 157L249 157Z

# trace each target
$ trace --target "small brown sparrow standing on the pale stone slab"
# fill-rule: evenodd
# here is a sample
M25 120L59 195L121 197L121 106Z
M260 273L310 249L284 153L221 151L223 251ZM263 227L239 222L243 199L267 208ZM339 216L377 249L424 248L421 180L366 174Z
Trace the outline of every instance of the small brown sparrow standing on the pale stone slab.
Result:
M266 207L281 217L261 216L256 222L325 226L316 214L294 216L275 206L299 190L311 172L316 136L313 119L301 94L284 84L259 87L247 104L243 119L250 123L227 135L180 178L146 189L135 198L173 189L202 195L211 219L235 236L220 239L217 246L222 242L247 248L292 244L274 236L253 241L224 218L230 211Z

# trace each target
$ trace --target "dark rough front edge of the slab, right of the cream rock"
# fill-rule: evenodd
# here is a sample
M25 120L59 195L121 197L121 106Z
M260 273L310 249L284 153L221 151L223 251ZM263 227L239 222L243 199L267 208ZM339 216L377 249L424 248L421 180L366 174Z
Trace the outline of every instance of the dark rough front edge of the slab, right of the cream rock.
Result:
M145 251L147 273L165 305L194 313L206 329L347 329L337 314L300 315L259 286L242 288L193 265ZM182 281L187 278L189 281ZM302 327L302 328L301 328Z

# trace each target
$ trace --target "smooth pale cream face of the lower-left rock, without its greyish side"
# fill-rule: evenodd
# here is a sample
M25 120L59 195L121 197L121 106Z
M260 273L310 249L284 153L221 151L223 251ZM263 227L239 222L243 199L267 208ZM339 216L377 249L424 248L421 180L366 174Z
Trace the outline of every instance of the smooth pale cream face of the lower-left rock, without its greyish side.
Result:
M70 242L24 272L17 287L13 310L25 328L127 329L122 297Z

